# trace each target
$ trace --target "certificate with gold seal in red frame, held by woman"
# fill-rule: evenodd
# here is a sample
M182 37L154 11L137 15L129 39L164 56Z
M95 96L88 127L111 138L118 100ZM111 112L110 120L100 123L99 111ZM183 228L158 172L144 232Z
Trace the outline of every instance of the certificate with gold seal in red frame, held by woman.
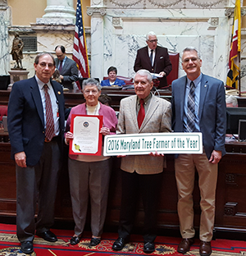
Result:
M74 139L69 144L69 153L99 156L102 153L103 116L71 115L70 131Z

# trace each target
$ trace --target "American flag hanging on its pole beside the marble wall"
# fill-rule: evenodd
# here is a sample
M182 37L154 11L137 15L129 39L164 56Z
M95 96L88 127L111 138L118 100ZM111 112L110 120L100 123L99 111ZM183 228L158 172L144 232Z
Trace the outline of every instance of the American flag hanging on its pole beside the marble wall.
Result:
M84 33L82 0L77 0L73 60L79 66L79 77L89 77L89 64Z

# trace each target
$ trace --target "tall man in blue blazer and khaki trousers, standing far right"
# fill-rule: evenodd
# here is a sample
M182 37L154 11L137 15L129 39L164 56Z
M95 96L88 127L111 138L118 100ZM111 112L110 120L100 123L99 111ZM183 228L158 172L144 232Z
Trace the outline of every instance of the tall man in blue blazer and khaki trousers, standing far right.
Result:
M182 56L185 76L172 82L172 129L202 132L202 154L180 154L175 158L179 193L178 214L182 240L178 252L185 254L194 243L194 172L198 171L201 192L200 249L212 254L211 240L215 217L217 163L225 154L226 107L221 80L201 73L202 60L195 48L185 48Z

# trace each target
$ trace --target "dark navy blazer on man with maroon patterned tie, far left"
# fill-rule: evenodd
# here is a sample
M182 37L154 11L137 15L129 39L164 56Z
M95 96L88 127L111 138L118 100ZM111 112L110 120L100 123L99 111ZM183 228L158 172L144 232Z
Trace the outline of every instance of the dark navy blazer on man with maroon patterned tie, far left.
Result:
M51 81L57 97L61 145L65 130L65 107L62 85ZM11 141L11 158L24 151L27 166L39 162L45 137L44 114L39 85L35 77L16 82L11 89L7 111L7 127Z

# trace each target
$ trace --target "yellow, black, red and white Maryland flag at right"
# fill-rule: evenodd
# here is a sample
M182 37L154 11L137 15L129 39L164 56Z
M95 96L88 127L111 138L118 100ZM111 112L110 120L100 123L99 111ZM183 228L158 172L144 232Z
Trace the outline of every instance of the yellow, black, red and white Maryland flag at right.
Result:
M230 58L226 85L239 89L239 52L241 51L241 7L240 0L235 2L234 23L230 43Z

